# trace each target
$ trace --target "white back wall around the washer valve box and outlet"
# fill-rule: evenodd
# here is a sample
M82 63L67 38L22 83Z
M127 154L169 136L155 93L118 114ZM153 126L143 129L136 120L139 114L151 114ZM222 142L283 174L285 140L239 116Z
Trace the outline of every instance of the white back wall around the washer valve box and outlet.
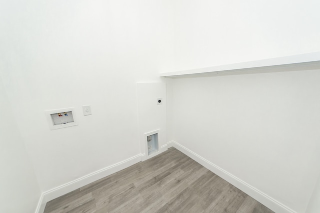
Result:
M0 74L42 192L140 153L136 82L172 62L168 2L1 2ZM44 111L68 107L78 125L50 130Z

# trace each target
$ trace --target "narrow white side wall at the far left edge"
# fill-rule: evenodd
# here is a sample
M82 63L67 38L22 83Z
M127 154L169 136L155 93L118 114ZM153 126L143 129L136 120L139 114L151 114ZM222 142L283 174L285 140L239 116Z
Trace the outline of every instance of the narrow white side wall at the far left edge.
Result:
M40 188L0 78L0 212L34 213Z

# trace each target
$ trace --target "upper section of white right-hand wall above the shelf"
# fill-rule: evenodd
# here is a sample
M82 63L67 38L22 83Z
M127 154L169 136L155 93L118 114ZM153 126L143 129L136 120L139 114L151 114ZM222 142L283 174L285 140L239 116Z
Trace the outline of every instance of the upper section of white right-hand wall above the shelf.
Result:
M167 71L320 51L318 0L175 0L174 5L175 68Z

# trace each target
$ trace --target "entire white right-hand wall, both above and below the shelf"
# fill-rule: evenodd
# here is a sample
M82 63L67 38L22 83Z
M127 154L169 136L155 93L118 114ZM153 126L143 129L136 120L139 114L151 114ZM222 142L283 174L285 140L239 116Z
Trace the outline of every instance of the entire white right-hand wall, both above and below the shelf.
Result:
M174 66L165 71L320 51L319 6L175 0ZM167 126L181 145L302 213L319 172L318 73L170 79Z

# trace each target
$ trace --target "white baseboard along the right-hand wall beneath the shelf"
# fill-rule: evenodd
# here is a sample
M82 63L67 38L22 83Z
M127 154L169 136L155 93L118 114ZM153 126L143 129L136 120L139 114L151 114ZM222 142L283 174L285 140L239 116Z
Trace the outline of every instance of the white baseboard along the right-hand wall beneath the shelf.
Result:
M250 186L249 184L245 183L244 181L238 179L237 177L231 175L227 171L219 168L218 166L214 165L213 163L207 161L206 159L202 158L201 156L197 155L196 153L192 152L191 150L185 148L181 144L177 143L176 141L169 141L167 143L168 148L174 147L183 154L187 155L194 161L198 162L214 174L218 175L225 181L229 182L239 190L243 191L256 201L260 202L270 210L272 210L275 213L296 213L290 208L284 206L283 204L277 202L276 200L272 199L268 195L265 195L264 193L260 192L259 190L255 189L254 187Z

